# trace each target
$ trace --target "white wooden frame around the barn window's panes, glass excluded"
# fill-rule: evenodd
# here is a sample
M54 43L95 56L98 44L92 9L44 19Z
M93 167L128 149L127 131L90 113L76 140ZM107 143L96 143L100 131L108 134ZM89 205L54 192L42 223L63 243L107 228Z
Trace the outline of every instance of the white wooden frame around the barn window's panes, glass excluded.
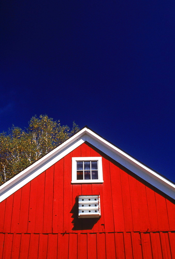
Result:
M77 161L98 161L98 179L77 180ZM72 157L71 183L103 183L102 157Z

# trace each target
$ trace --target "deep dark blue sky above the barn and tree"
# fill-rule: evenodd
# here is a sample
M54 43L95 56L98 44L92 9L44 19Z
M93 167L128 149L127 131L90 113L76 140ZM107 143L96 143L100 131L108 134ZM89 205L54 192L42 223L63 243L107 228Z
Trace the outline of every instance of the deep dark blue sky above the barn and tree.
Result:
M174 1L1 1L0 132L37 114L175 182Z

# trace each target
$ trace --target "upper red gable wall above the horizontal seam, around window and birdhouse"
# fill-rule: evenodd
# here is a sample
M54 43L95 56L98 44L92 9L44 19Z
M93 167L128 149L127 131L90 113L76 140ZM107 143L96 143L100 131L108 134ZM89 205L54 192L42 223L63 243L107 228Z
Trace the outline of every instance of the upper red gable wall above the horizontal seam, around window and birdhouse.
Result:
M103 184L71 184L71 158L101 156ZM77 196L100 194L101 218L78 219ZM96 233L175 229L175 205L83 144L0 203L3 233Z

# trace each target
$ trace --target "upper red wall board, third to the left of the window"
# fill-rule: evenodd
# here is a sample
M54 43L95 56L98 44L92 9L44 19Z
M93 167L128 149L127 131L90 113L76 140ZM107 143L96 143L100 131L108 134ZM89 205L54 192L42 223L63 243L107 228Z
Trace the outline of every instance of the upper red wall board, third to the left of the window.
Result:
M45 172L43 233L52 233L53 173L54 166Z

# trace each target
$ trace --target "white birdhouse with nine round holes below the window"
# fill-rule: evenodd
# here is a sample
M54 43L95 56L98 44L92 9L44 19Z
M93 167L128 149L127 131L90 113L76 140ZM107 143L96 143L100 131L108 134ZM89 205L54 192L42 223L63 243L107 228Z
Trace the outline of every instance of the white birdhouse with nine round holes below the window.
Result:
M78 210L78 218L100 217L100 195L79 195Z

